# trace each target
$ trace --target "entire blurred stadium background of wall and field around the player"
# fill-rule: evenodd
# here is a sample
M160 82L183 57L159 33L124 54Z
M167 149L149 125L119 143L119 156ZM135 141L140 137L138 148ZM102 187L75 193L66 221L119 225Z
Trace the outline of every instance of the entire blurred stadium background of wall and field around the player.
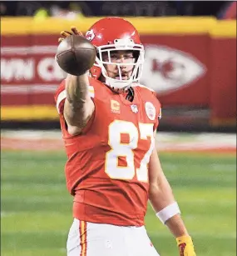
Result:
M1 255L66 255L72 198L53 101L65 74L54 54L62 30L109 15L141 33L142 83L163 110L157 150L197 255L236 255L236 2L2 1L0 11ZM178 255L151 208L146 226L161 256Z

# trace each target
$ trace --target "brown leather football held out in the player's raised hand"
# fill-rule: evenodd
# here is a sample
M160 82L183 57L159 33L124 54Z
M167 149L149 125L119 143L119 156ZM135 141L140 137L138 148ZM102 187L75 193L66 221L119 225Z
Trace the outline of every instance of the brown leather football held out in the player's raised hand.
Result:
M56 61L63 71L74 76L86 73L95 63L96 48L86 38L72 35L57 47Z

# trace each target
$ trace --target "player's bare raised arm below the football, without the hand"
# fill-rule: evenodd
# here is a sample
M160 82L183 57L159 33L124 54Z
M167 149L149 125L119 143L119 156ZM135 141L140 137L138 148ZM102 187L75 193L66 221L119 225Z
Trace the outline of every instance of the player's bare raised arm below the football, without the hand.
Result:
M86 126L95 110L95 105L89 94L88 74L66 78L66 100L64 118L67 122L68 133L76 135Z

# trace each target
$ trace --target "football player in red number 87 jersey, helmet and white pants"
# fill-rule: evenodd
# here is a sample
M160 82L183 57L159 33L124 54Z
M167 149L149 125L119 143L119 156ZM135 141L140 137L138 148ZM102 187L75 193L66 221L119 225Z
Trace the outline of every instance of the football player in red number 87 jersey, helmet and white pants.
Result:
M72 28L59 41L72 33L81 35ZM156 152L160 103L139 83L145 52L136 28L123 18L102 18L85 37L96 47L94 66L68 74L55 95L74 197L67 255L159 255L144 226L150 200L180 256L195 256Z

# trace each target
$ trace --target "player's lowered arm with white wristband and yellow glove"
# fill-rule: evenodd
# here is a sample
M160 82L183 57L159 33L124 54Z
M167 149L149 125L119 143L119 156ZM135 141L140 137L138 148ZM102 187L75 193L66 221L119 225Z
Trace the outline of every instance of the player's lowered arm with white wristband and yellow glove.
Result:
M154 134L156 136L156 134ZM180 217L178 204L175 202L170 183L160 165L156 147L151 153L149 163L149 199L157 217L170 229L180 248L180 256L195 256L190 235Z

